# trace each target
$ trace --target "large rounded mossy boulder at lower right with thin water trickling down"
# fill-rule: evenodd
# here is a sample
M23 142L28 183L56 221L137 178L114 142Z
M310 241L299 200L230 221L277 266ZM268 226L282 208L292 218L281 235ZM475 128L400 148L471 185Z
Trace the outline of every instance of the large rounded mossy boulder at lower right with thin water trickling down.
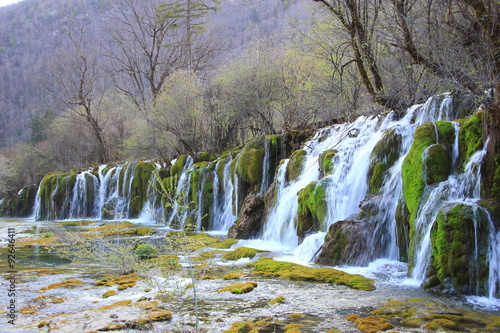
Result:
M431 232L430 269L441 285L465 294L481 291L477 288L486 285L489 274L488 229L486 214L473 206L449 205L439 211Z

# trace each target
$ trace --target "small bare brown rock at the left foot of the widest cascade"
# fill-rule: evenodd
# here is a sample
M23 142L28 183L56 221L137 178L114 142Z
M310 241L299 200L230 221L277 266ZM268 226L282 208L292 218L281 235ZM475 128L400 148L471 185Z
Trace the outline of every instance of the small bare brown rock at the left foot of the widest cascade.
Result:
M250 193L240 212L238 220L229 229L228 237L248 239L258 236L264 217L264 197L260 193Z

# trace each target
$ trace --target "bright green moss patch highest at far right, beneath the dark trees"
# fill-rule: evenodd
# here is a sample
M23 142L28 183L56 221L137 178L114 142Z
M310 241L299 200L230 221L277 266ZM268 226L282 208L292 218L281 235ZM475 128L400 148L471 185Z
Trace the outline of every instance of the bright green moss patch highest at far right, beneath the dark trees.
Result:
M462 120L458 134L461 166L465 165L475 152L483 148L483 116L484 111L480 111Z

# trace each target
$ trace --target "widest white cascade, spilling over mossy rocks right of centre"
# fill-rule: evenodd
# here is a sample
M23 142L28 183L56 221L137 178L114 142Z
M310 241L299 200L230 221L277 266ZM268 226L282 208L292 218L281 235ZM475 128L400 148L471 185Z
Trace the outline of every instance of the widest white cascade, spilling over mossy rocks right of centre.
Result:
M334 168L331 174L319 180L324 182L326 186L327 217L323 231L328 230L331 224L359 213L360 203L368 194L367 178L370 155L384 133L393 130L401 136L399 159L388 171L388 176L381 189L379 195L381 199L377 203L379 213L372 217L373 223L377 223L376 232L370 241L374 242L380 236L385 237L385 240L382 241L381 253L373 254L372 260L382 256L398 259L395 212L402 191L401 165L411 146L416 128L428 121L441 120L441 117L454 118L451 105L451 97L449 96L433 97L423 105L411 107L406 115L398 120L394 119L393 113L384 119L359 117L353 123L335 125L318 132L313 139L304 145L307 155L304 160L303 172L295 182L288 184L286 189L281 189L286 198L280 197L282 199L272 208L262 238L287 245L298 243L295 234L297 193L312 181L319 180L318 157L327 149L335 149L335 154L332 163ZM277 179L280 179L281 186L285 186L284 178L277 176ZM285 233L282 230L288 231ZM317 238L316 235L309 237ZM310 246L318 246L318 248L303 248ZM319 246L321 246L321 242L307 241L306 238L303 244L296 249L295 254L304 256L315 254L318 252ZM312 259L313 257L301 258L302 261Z

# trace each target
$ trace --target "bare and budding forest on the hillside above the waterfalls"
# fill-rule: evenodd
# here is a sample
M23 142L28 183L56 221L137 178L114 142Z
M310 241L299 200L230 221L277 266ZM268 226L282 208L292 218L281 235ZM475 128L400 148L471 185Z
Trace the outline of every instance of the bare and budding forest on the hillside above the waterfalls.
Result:
M50 171L196 159L442 92L486 105L494 132L498 101L485 92L499 83L499 7L24 0L0 8L0 195Z

